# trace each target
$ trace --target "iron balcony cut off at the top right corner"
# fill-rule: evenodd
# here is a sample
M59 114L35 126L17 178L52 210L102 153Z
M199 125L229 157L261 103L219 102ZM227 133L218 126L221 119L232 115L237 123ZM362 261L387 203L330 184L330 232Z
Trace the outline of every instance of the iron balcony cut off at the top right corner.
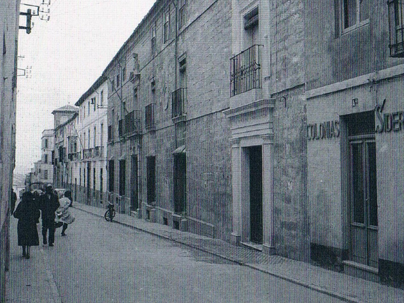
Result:
M390 57L404 58L404 0L388 0Z

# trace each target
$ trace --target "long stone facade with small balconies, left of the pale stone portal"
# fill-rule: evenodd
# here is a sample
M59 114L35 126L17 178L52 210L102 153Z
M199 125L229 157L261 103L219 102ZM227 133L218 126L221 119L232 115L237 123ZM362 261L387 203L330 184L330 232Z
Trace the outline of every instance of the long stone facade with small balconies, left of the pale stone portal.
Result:
M104 71L110 200L120 212L227 240L230 7L157 1Z

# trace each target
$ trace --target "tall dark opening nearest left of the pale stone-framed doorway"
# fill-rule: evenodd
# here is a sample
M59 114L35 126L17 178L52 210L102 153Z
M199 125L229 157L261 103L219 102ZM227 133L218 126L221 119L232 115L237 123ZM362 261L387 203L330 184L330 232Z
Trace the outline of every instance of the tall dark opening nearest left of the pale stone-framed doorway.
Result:
M174 154L174 211L185 212L186 202L186 154Z

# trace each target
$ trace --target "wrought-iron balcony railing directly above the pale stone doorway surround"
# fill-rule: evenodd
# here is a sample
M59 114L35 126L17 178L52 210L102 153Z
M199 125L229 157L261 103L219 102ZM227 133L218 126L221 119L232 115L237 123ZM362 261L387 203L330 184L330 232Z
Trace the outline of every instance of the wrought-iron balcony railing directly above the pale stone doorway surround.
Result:
M261 88L260 46L252 45L230 59L230 97Z

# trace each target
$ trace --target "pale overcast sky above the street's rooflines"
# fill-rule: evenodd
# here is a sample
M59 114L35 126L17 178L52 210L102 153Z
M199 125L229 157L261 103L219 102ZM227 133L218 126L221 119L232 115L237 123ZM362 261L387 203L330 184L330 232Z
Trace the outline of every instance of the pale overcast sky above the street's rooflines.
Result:
M44 4L42 4L44 2ZM155 0L21 0L33 16L30 34L18 35L15 173L40 160L40 139L52 129L52 111L74 105L102 74ZM27 6L27 5L31 5ZM32 7L36 6L36 7ZM49 9L49 13L46 13ZM26 17L20 16L20 26Z

